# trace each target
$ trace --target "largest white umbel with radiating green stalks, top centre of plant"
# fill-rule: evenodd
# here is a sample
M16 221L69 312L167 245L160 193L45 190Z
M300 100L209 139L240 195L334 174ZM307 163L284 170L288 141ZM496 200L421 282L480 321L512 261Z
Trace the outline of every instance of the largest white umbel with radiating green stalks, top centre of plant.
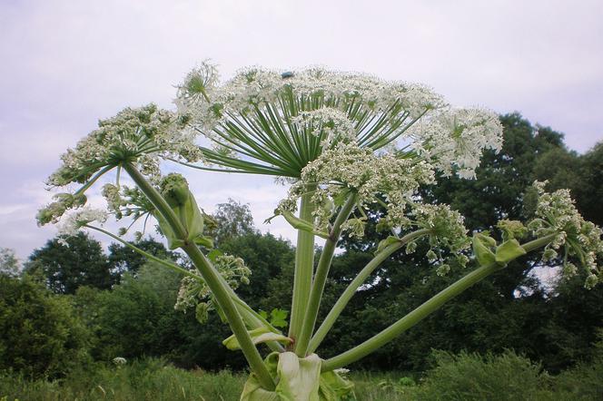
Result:
M445 174L474 178L481 152L501 147L493 112L450 109L426 86L360 73L250 68L219 84L207 64L187 75L175 102L213 142L203 162L235 171L298 178L340 142L372 151L402 142Z

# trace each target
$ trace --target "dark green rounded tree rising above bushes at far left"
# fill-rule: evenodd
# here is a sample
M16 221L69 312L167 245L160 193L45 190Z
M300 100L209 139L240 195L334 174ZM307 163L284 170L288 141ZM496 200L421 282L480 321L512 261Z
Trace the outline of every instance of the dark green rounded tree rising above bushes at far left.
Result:
M40 274L58 294L74 294L81 286L110 289L115 282L100 242L81 232L56 237L35 249L25 271Z

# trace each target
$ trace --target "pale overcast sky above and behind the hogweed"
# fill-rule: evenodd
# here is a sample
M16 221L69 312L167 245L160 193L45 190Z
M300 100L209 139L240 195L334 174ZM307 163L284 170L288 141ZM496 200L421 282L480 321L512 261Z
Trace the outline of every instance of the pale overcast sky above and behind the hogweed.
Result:
M25 259L54 236L34 216L59 154L125 106L172 108L205 58L223 78L321 64L428 83L455 105L519 111L578 152L603 140L601 0L1 0L0 247ZM258 228L291 236L262 225L284 193L271 179L192 177L205 210L248 202Z

